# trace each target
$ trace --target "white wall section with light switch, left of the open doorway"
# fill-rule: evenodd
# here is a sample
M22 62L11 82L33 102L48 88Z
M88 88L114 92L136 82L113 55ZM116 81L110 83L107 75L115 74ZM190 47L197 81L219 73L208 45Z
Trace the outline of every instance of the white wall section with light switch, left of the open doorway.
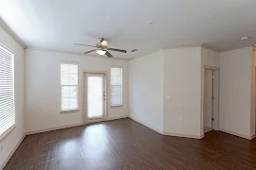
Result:
M164 50L164 132L200 136L201 47Z

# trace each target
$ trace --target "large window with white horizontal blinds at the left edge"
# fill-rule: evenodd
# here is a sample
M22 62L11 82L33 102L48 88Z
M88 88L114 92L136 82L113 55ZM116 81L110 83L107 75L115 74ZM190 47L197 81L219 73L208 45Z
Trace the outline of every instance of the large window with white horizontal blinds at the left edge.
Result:
M0 45L0 139L15 126L13 54Z

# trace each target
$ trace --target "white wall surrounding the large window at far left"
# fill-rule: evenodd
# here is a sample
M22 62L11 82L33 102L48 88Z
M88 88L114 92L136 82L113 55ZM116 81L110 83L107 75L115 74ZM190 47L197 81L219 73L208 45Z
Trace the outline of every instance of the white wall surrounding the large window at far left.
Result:
M0 26L0 43L14 52L14 80L15 80L15 123L16 127L9 135L0 141L3 150L0 152L0 169L9 158L9 154L23 138L24 127L24 48L15 42Z

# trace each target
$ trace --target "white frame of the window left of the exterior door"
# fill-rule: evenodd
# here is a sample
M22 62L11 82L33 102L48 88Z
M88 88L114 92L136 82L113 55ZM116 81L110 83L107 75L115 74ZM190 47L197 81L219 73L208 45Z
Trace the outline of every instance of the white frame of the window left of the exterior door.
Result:
M73 65L77 65L78 66L78 83L77 85L62 85L62 64L73 64ZM80 110L80 104L79 104L79 63L78 62L75 62L75 61L64 61L62 60L60 62L60 98L61 98L61 103L60 103L60 113L62 114L67 114L67 113L73 113L73 112L77 112ZM77 109L74 109L74 110L63 110L62 109L62 103L63 103L63 93L62 93L62 87L63 86L73 86L73 87L77 87L77 103L78 103L78 108Z

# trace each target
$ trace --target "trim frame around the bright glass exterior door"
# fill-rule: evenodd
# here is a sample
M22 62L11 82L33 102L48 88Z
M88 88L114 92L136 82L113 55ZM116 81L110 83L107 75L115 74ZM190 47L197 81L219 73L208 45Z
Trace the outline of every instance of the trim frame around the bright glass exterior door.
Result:
M86 96L87 96L87 91L85 91L85 88L87 89L87 84L85 81L87 81L84 77L87 74L101 74L105 76L105 116L104 118L101 119L91 119L87 120L87 104L85 104L86 101ZM108 119L108 98L109 98L109 89L108 89L108 82L109 82L109 77L108 77L108 71L101 71L101 70L82 70L82 124L90 124L90 123L95 123L95 122L101 122L105 121Z

